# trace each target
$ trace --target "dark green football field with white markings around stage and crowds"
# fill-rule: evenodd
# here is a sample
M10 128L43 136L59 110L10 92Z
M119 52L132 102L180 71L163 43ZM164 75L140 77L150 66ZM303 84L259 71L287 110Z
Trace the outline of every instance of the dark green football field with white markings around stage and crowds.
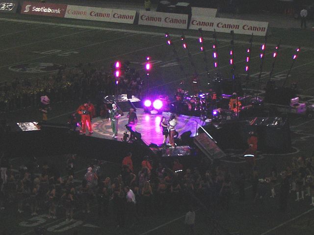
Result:
M164 33L168 32L178 52L180 64L178 64L173 47L166 44ZM200 51L198 32L153 28L148 26L110 24L100 22L76 21L69 19L56 19L49 17L0 15L0 82L11 82L15 78L22 80L29 78L31 81L49 77L59 65L74 67L79 63L91 64L92 67L104 67L109 71L110 64L116 60L130 61L131 66L145 75L143 64L146 56L150 56L153 69L149 76L150 90L156 94L173 94L180 82L185 82L185 87L190 90L191 77L194 68L183 50L180 36L186 37L186 42L192 54L192 60L196 65L200 88L208 90L207 71L204 64L204 53ZM302 29L270 28L267 37L267 48L263 66L260 90L265 86L269 78L269 71L273 63L272 53L276 45L281 41L278 59L273 72L273 79L280 85L286 78L292 63L292 56L297 47L301 47L299 56L290 72L287 86L291 82L298 83L298 89L304 100L314 101L314 32ZM204 32L204 45L207 50L208 68L210 75L220 72L223 76L231 77L229 65L230 34L217 33L219 71L213 67L211 56L213 33ZM246 49L249 47L250 36L235 35L235 74L245 76L244 66ZM254 37L251 55L248 88L257 89L257 80L260 72L260 47L264 42L263 37ZM180 69L182 66L183 70ZM147 84L147 83L146 83ZM77 102L66 104L53 104L51 117L57 121L64 121L65 114L76 110ZM1 114L11 120L23 121L38 118L34 110L23 110L10 114ZM313 149L313 121L297 118L292 123L302 137L307 133L305 141L295 140L294 144L299 148ZM297 139L297 138L296 138ZM302 139L302 140L301 140ZM312 145L311 145L312 144ZM15 167L22 161L17 159ZM118 164L105 165L108 175L114 177L119 169ZM86 160L81 160L78 174L82 176L86 169ZM247 189L248 194L250 188ZM312 235L314 231L313 208L307 200L299 204L294 202L294 195L289 200L289 211L280 214L276 210L278 199L267 202L267 210L259 211L253 205L252 200L238 202L237 194L233 198L231 211L217 211L216 218L231 233L238 232L243 235ZM45 214L33 217L30 214L18 214L14 205L6 214L0 212L1 224L14 235L31 235L33 228L43 226L48 229L48 235L69 235L74 229L79 230L79 235L182 235L184 234L183 215L185 208L178 210L159 211L149 217L141 218L141 226L134 228L116 229L113 218L99 218L96 213L90 216L78 214L75 222L66 223L60 215L58 219L48 219ZM4 223L3 223L4 221ZM196 234L215 234L212 223L207 219L206 213L197 211ZM279 226L277 228L277 226ZM2 228L3 228L2 227Z

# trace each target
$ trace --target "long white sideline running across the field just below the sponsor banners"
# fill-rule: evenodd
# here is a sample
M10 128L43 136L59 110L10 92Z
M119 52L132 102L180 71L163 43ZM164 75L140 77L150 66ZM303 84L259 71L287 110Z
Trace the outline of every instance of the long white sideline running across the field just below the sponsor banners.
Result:
M160 35L164 36L164 33L158 33L158 32L146 32L146 31L141 31L141 30L129 30L129 29L121 29L121 28L106 28L106 27L96 27L96 26L87 26L87 25L75 25L75 24L58 24L58 23L50 23L50 22L38 22L38 21L26 21L26 20L16 20L16 19L6 19L6 18L0 18L0 21L12 21L12 22L24 22L24 23L29 23L29 24L46 24L46 25L56 25L56 26L65 26L65 27L76 27L76 28L90 28L90 29L101 29L101 30L107 30L107 31L117 31L117 32L130 32L130 33L137 33L137 34L146 34L146 35ZM180 34L171 34L171 37L177 37L181 38ZM193 38L193 39L198 39L199 36L189 36L186 35L185 38ZM204 37L207 40L208 37ZM213 38L210 39L213 41ZM219 39L219 42L230 42L229 39ZM249 44L248 41L242 41L242 40L235 40L236 43L243 43L243 44ZM253 42L253 45L261 45L261 42ZM271 47L276 47L277 44L267 44L268 46ZM288 45L280 45L280 47L287 47L287 48L293 48L295 49L298 46L288 46ZM314 48L311 47L303 47L303 49L307 50L314 50Z

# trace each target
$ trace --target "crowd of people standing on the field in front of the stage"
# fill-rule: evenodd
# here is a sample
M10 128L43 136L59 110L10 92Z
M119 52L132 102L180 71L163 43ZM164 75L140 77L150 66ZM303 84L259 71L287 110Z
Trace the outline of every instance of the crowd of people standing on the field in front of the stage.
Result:
M245 184L251 184L251 201L260 210L264 210L266 200L277 198L278 209L286 211L288 198L294 200L294 195L295 201L309 198L309 205L314 206L312 158L293 159L280 173L273 167L265 177L257 167L249 174L240 170L235 176L222 166L191 169L178 159L171 164L152 164L147 156L141 164L133 165L129 153L116 177L107 177L99 161L94 160L79 184L74 181L77 177L75 162L75 155L69 156L66 168L69 176L62 178L59 171L47 163L40 167L40 175L25 166L16 174L8 161L2 159L1 210L4 205L17 202L19 213L48 212L51 218L61 216L67 220L79 218L81 213L97 213L115 217L117 227L133 226L140 217L158 211L184 211L200 205L211 210L231 210L235 192L240 200L248 200Z

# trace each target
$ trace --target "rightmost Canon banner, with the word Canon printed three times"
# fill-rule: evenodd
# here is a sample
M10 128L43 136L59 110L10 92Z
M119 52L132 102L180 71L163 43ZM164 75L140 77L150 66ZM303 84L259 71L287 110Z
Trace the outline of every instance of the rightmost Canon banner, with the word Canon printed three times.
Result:
M212 18L205 16L192 16L189 29L202 28L205 31L214 31L230 33L234 30L237 34L249 34L256 36L265 36L268 22L242 21L225 18Z

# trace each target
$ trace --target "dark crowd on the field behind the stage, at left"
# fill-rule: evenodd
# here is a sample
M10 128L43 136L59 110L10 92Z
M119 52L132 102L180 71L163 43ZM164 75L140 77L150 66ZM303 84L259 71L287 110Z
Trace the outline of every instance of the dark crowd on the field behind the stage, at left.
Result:
M49 76L36 79L15 78L0 84L0 112L38 107L40 96L47 95L52 103L97 99L98 94L141 95L143 81L138 72L125 62L120 77L113 69L93 68L90 65L64 66Z

